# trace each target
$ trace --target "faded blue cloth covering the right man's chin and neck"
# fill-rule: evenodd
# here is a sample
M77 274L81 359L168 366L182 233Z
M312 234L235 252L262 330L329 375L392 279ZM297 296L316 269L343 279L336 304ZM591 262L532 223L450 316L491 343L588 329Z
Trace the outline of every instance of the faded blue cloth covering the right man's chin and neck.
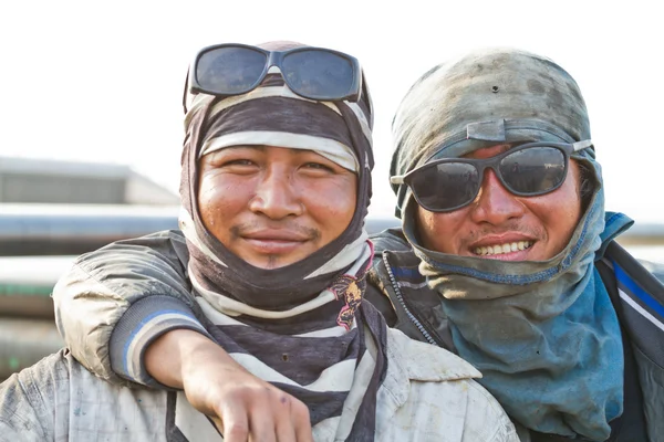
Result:
M605 440L623 410L624 357L620 325L594 269L605 241L631 225L604 213L600 166L595 193L566 249L544 262L457 256L418 244L414 217L404 233L419 270L443 295L459 356L510 417L526 428ZM409 210L407 207L406 210Z

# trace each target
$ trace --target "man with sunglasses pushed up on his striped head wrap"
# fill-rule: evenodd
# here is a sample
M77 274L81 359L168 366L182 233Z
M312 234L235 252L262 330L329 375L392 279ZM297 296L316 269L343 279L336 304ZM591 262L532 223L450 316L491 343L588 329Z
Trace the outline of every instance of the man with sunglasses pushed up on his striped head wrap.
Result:
M113 385L69 350L46 357L0 385L0 440L518 441L475 368L363 299L373 154L357 61L225 44L198 54L189 84L181 231L114 245L138 260L98 252L105 271L134 273L127 299L153 284L180 295L134 299L120 318L103 275L81 281L98 285L79 320L120 319L115 338L151 347L148 370L112 355L126 383ZM145 254L159 243L186 271Z

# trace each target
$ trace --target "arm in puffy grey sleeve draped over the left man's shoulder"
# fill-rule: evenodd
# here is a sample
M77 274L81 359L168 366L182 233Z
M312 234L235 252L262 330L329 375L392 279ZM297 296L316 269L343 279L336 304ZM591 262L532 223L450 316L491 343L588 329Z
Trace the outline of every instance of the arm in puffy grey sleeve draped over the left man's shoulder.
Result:
M307 407L247 372L196 320L187 262L178 231L76 260L53 292L55 320L73 356L115 383L183 389L197 410L218 417L228 441L247 434L310 441Z

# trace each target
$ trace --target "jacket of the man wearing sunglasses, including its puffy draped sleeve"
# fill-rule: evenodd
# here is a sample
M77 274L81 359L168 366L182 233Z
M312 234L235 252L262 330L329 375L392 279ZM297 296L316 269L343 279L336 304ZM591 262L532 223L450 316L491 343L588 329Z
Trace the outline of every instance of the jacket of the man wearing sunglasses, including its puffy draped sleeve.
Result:
M374 243L376 255L370 274L366 298L380 308L391 326L414 339L454 351L438 296L428 290L417 270L418 260L401 232L398 230L383 232L374 238ZM631 257L630 260L634 261ZM621 262L630 260L621 260ZM184 309L195 308L188 296L189 287L184 270L187 261L186 245L178 231L118 242L79 259L70 273L60 281L53 294L60 330L76 358L106 379L127 382L126 379L117 377L111 367L108 349L112 347L110 345L112 332L121 319L126 322L132 317L132 313L137 311L136 306L145 303L147 297L162 301L168 298L177 301ZM610 260L604 261L613 265ZM599 265L598 267L600 269ZM614 274L612 269L610 273L611 276ZM654 275L660 281L664 280L664 272L656 265L647 267L646 273L650 273L651 277ZM125 280L121 281L118 276L124 276ZM611 280L611 276L605 277L603 274L605 281ZM653 278L653 285L656 284L658 284L657 280ZM652 333L644 332L644 329L662 332L664 327L657 328L651 320L652 315L649 318L642 314L643 308L635 308L634 306L640 305L647 308L647 305L633 296L625 284L619 285L620 291L618 285L612 287L612 284L608 284L608 288L614 304L618 305L621 324L627 333L637 360L641 389L645 393L644 408L650 433L664 434L664 429L657 427L664 422L662 414L664 404L661 399L664 393L653 393L660 391L660 386L664 385L664 364L661 360L664 355L662 347L664 340L653 337ZM620 297L618 302L615 294ZM661 305L657 308L662 309ZM128 314L125 315L127 312ZM651 312L656 313L652 308ZM82 323L79 319L81 317L98 319ZM155 329L154 334L158 335L165 329L167 327ZM122 344L118 343L115 347L121 347ZM136 356L129 355L129 357ZM154 380L149 377L132 377L127 373L123 376L142 383L154 385ZM657 439L651 436L651 440Z

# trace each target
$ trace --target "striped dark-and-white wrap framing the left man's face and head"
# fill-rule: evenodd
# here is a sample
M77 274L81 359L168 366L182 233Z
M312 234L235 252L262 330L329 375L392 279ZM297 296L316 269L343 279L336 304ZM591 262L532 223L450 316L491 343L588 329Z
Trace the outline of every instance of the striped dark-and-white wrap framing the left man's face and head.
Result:
M195 271L217 285L222 282L229 296L266 309L288 309L324 290L333 275L355 261L366 242L364 218L373 168L369 94L359 103L313 102L293 94L281 75L273 74L247 94L225 99L198 94L191 103L185 117L180 228L193 262L200 262ZM305 260L276 270L258 269L230 253L207 231L197 204L203 155L234 145L266 144L307 148L344 167L353 165L349 168L357 173L359 182L357 206L346 230Z

